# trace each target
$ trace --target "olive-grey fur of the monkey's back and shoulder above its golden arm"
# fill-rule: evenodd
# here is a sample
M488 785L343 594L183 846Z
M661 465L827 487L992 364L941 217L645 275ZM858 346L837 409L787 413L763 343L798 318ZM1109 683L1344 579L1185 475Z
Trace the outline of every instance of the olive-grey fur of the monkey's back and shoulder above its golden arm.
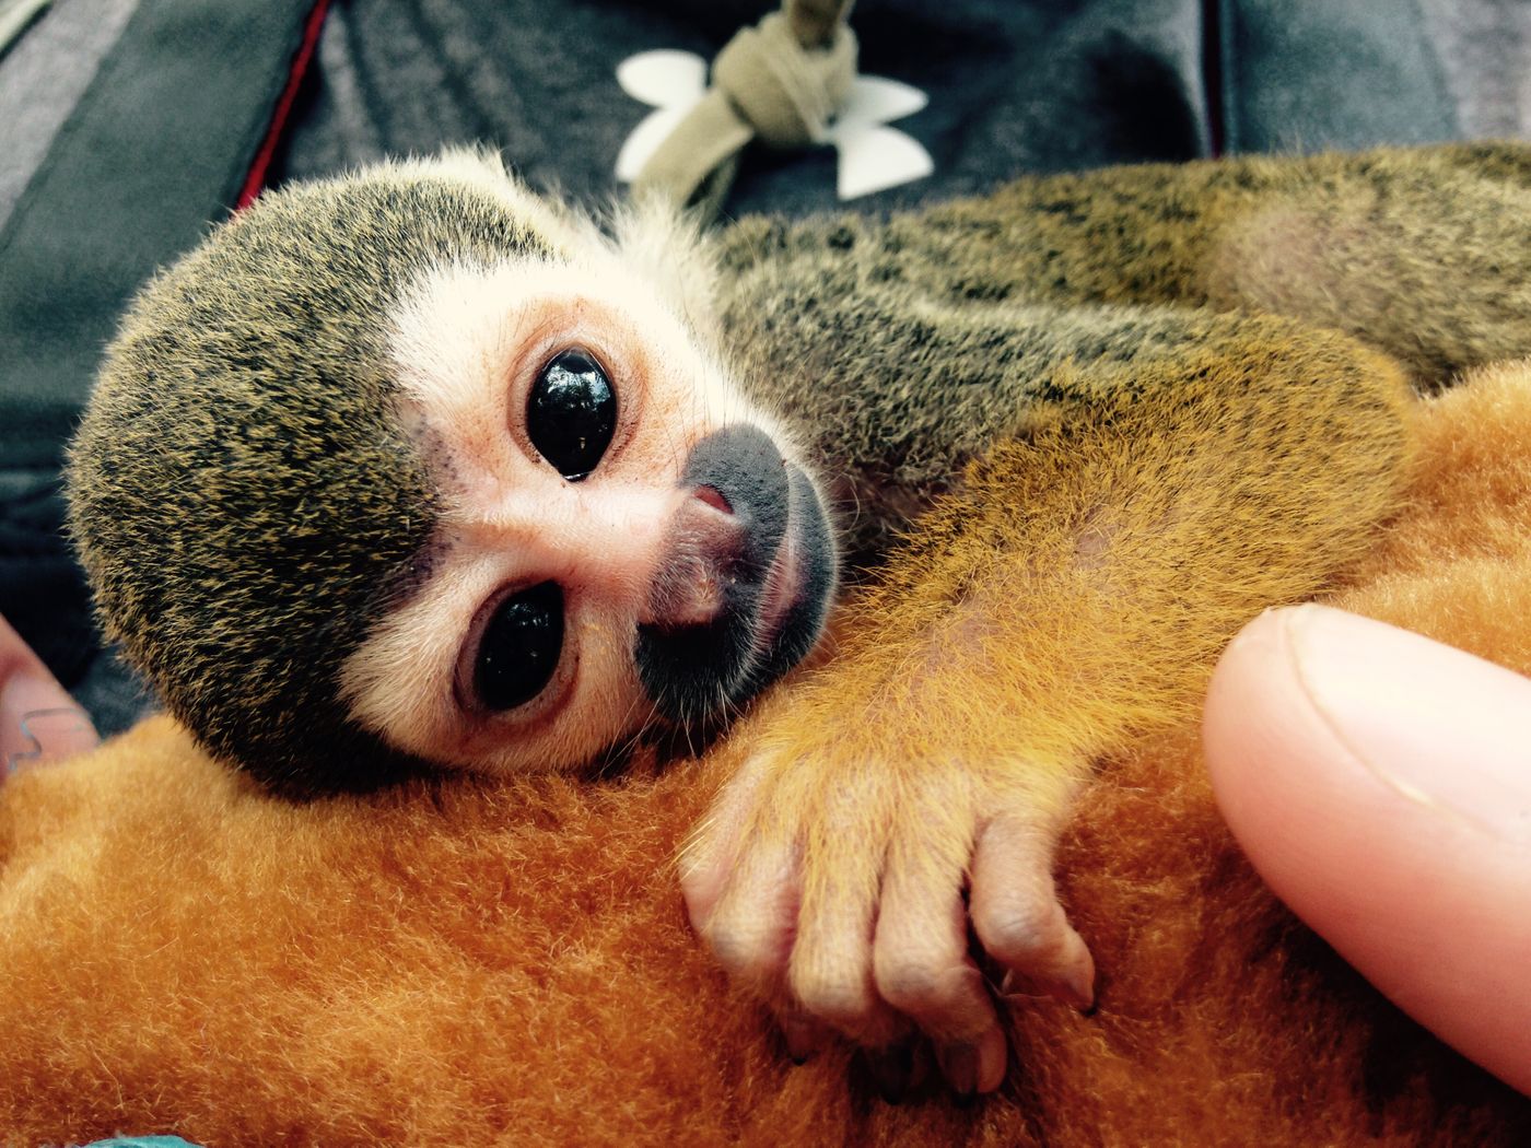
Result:
M885 220L743 219L715 240L717 311L741 378L824 445L853 559L874 557L1067 400L1063 361L1236 354L1271 315L1421 389L1531 354L1526 220L1525 144L1119 167Z

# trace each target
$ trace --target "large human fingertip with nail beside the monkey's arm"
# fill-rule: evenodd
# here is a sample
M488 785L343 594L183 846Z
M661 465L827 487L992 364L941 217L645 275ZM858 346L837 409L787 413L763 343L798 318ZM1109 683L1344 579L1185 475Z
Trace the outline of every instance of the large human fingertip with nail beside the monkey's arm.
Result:
M1260 876L1398 1007L1531 1091L1531 680L1326 606L1263 614L1206 698Z

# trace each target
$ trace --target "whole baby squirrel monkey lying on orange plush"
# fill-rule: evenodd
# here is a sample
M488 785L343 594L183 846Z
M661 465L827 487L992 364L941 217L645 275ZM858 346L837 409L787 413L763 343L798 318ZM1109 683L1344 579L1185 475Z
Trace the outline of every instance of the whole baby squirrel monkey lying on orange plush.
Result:
M1092 764L1364 553L1410 383L1531 352L1528 173L1121 168L706 239L468 153L291 187L133 305L72 528L170 710L291 794L717 729L877 563L683 888L795 1052L919 1030L989 1091L994 980L1095 998L1052 885Z

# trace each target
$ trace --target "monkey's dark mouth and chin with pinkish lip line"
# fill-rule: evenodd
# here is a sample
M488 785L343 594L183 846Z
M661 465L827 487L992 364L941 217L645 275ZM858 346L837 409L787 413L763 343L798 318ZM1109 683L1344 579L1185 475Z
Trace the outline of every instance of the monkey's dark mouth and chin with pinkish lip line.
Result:
M729 571L718 615L683 629L638 628L638 677L675 726L715 729L735 716L824 631L837 572L828 516L801 467L782 462L781 478L787 513L775 537L756 540L764 554Z

